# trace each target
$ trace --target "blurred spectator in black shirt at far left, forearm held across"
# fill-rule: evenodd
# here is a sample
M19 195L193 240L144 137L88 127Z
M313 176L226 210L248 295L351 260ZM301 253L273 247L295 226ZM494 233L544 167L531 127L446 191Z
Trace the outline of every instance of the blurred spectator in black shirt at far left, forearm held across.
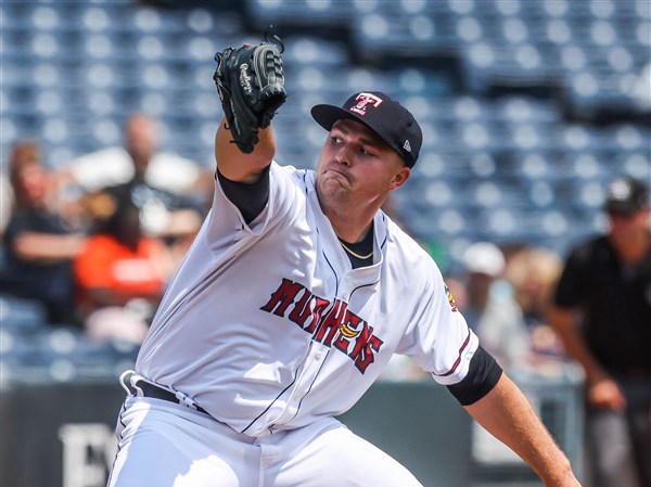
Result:
M9 180L13 207L3 235L2 292L42 303L52 323L77 324L72 259L85 236L49 205L53 180L37 142L13 146Z

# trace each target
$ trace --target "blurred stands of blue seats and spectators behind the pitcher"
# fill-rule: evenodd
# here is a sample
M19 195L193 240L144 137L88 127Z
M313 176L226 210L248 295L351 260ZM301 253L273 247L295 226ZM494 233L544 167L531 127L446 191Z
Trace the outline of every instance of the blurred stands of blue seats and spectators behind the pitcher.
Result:
M316 103L400 100L423 148L386 212L507 370L559 373L567 255L629 202L615 178L649 207L648 0L3 1L2 380L132 360L209 207L213 56L270 24L289 91L277 161L314 166ZM386 379L422 376L396 359Z

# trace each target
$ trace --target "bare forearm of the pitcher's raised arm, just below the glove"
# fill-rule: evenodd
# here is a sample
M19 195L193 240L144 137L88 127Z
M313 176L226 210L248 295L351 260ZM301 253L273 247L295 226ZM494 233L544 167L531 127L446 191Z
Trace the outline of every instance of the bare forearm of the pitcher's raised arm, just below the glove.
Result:
M251 154L244 154L232 143L226 118L221 119L215 136L215 161L217 170L226 179L234 182L254 183L271 164L276 153L276 140L271 126L259 129L259 142Z

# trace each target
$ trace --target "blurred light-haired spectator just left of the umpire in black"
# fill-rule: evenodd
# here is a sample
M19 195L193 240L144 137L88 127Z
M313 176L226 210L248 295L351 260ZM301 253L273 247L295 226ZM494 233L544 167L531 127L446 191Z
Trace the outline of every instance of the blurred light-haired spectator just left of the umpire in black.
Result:
M541 247L524 247L507 262L505 279L513 289L529 333L532 359L564 358L559 336L548 322L562 260Z

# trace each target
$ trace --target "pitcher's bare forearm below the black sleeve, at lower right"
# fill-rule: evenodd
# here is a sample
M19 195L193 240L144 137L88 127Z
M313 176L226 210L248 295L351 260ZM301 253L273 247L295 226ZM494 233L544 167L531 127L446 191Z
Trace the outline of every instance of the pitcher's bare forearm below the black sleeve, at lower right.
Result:
M501 374L488 394L464 408L488 433L528 463L546 487L580 486L570 461L507 374Z

